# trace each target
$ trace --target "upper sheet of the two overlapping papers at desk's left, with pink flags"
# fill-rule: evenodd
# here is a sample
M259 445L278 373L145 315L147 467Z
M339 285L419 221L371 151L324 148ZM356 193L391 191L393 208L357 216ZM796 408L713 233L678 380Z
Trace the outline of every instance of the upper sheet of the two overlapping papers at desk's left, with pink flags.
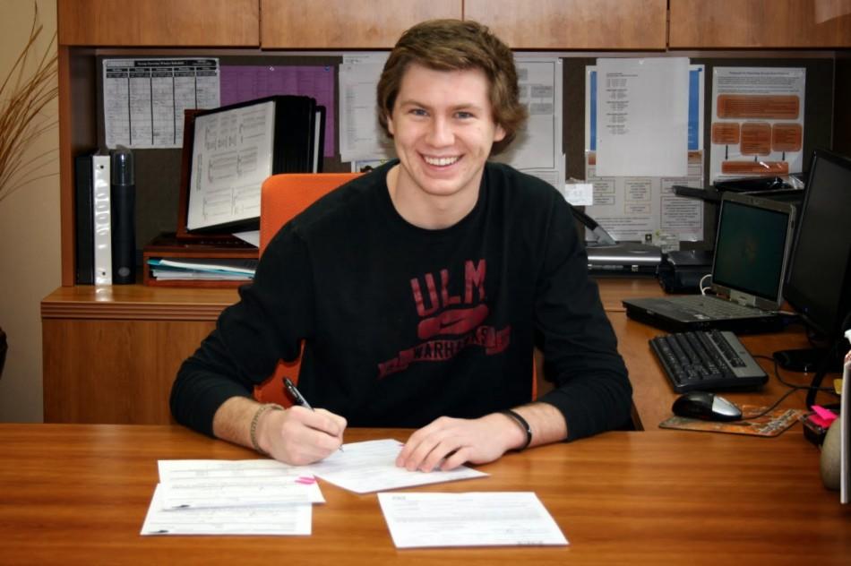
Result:
M271 459L159 460L159 482L166 509L325 502L305 467Z

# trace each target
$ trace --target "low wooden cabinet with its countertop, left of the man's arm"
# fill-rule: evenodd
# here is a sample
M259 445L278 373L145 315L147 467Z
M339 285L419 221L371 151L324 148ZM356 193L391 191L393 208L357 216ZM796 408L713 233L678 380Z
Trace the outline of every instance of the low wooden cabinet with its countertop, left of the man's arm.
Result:
M180 364L235 289L60 287L41 304L47 423L168 424Z

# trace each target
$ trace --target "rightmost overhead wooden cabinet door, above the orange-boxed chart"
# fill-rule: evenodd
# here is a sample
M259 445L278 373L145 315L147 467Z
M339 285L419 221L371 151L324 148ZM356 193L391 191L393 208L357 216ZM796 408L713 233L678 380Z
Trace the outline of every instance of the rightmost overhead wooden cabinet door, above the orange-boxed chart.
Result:
M851 2L671 0L670 47L851 47Z

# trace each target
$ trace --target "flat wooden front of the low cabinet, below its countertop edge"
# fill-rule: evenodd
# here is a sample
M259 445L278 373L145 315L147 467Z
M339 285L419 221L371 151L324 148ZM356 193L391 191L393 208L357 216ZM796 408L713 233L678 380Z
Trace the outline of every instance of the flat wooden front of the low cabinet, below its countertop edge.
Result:
M45 422L168 425L177 369L215 324L43 319Z

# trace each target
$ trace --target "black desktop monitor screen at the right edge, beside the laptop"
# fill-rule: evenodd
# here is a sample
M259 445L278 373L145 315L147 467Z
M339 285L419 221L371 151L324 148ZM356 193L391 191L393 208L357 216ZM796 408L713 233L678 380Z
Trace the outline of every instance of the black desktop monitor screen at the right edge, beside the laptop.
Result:
M818 334L838 336L851 306L851 159L817 150L783 295Z

